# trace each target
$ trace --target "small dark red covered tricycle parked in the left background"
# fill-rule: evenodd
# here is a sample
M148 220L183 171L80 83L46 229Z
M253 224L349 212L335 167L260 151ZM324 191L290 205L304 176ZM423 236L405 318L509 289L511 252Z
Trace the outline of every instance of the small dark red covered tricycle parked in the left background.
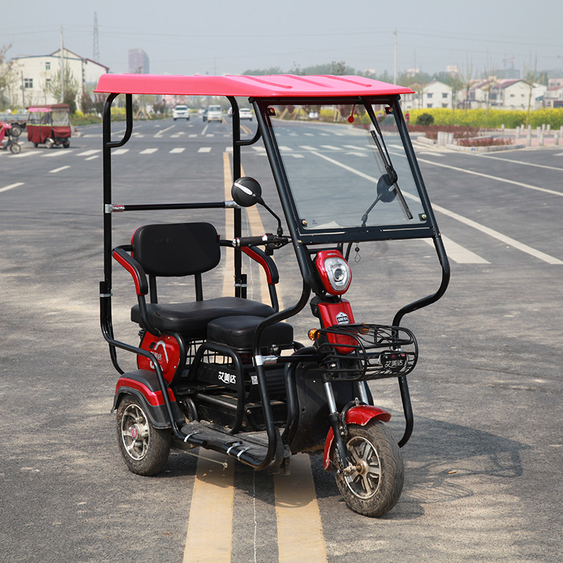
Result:
M27 108L27 140L34 146L45 144L47 148L70 146L70 110L66 103Z

